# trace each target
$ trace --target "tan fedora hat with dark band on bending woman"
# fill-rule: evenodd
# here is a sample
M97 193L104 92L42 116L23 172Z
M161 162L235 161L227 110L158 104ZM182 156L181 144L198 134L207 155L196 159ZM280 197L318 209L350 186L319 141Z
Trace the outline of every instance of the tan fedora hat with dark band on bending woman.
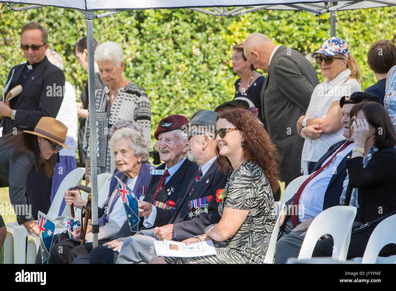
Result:
M34 131L24 130L23 132L45 137L71 150L69 146L65 145L67 126L53 117L42 117L34 127Z

